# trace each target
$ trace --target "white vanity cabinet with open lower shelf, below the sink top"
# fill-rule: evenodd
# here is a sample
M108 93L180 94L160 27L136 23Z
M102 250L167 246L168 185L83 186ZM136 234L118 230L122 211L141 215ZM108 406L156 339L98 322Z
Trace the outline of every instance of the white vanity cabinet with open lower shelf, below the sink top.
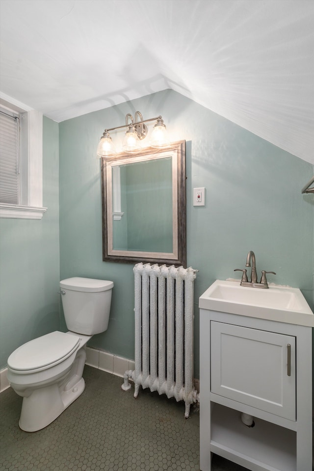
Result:
M200 307L201 471L312 471L312 327Z

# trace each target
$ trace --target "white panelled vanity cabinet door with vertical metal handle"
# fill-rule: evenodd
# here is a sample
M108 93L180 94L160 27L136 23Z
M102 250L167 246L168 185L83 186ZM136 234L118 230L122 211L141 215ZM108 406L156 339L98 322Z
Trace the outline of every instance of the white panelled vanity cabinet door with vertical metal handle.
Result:
M296 419L295 337L212 321L210 341L211 392Z

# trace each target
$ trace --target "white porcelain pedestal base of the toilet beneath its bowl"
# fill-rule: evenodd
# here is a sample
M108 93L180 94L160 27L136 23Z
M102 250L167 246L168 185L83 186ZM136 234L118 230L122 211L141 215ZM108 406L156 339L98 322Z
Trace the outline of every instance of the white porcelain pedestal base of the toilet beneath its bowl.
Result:
M29 397L23 398L19 426L25 432L36 432L47 427L74 402L85 389L85 381L80 378L68 391L60 393L57 384L39 388Z

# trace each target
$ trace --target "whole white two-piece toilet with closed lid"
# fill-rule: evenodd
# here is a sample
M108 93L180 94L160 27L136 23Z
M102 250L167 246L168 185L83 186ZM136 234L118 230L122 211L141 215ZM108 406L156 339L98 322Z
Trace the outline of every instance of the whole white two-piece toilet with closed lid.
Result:
M35 432L49 425L84 391L86 343L108 327L112 281L60 281L69 332L52 332L17 348L8 358L8 381L23 397L19 426Z

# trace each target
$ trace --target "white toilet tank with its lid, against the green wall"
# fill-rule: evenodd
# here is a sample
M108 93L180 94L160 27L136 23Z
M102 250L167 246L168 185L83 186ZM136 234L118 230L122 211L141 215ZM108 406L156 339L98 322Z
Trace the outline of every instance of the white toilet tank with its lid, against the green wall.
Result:
M71 332L94 335L108 327L113 282L92 278L60 281L64 317Z

